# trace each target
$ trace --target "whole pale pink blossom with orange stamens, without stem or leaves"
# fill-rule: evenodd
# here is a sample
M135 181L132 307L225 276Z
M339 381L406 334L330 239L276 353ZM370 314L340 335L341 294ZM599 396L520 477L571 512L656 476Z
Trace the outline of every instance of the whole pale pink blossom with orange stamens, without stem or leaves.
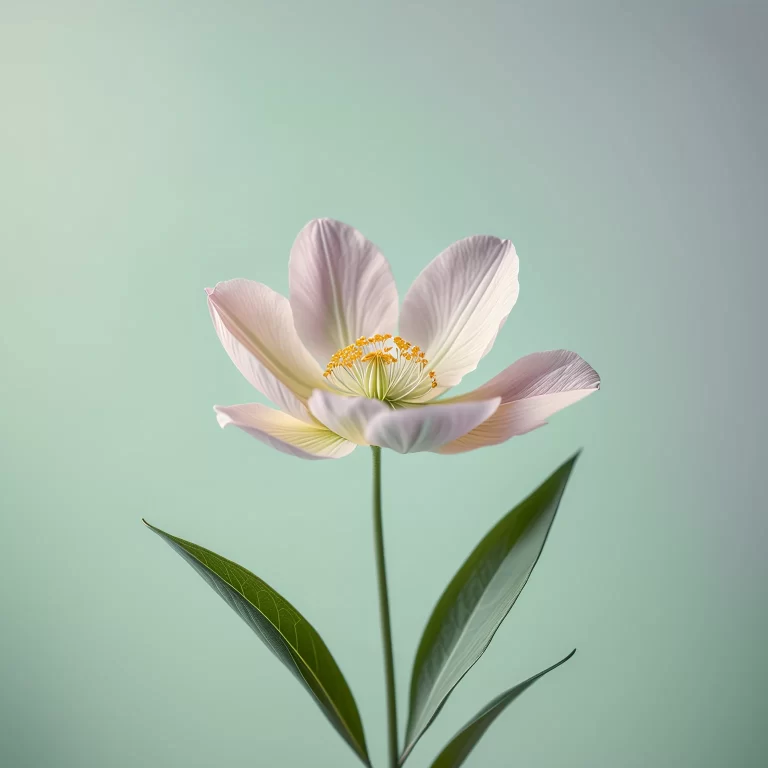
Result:
M252 280L206 289L216 333L246 379L280 410L216 406L279 451L338 459L358 445L442 454L530 432L597 390L577 354L538 352L464 395L456 386L493 346L518 294L509 240L459 240L416 278L399 312L379 249L332 219L309 222L289 263L290 298Z

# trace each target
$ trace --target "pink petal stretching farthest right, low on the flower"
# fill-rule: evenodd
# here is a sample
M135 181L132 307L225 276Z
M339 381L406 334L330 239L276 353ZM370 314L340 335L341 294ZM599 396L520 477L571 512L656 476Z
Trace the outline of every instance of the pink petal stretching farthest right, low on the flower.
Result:
M575 352L537 352L521 358L482 387L445 402L461 403L501 397L499 409L464 436L440 448L463 453L497 445L542 427L557 411L600 388L597 372Z

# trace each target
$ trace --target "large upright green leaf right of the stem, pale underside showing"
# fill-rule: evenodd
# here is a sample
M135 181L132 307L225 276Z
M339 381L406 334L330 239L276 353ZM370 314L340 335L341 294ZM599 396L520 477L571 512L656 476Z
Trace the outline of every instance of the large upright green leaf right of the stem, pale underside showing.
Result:
M411 676L402 765L472 668L522 592L555 518L578 453L477 545L427 622Z

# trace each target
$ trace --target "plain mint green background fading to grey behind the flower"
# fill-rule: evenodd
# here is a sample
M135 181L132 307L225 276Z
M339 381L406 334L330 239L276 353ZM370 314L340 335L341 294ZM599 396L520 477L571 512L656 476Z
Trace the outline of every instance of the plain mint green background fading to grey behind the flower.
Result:
M604 382L502 447L385 455L404 719L442 587L585 447L409 765L573 647L467 766L765 764L764 3L0 9L1 765L356 764L142 516L306 613L383 765L368 453L301 462L212 411L254 398L203 288L286 291L317 216L401 295L453 240L510 237L520 300L466 387L557 347Z

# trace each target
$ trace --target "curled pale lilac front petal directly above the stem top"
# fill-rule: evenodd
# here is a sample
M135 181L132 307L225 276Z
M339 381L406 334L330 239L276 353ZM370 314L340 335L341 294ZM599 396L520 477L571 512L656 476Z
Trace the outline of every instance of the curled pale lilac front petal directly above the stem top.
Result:
M376 416L365 436L371 445L398 453L434 451L474 429L498 408L501 398L401 408Z

